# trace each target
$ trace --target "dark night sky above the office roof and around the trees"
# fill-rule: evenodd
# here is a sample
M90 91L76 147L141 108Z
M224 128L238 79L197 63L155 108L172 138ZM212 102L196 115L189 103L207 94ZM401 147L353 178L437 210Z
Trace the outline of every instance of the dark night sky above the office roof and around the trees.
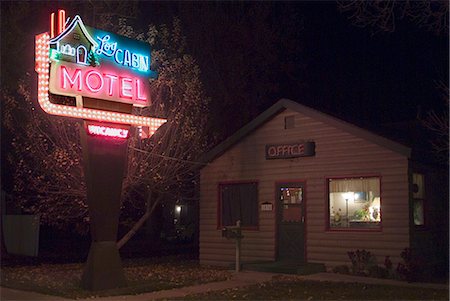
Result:
M29 3L18 37L25 57L13 71L32 70L27 49L35 34L47 30L50 10L66 8L69 15L92 20L95 5ZM2 2L3 13L6 7ZM131 19L137 28L170 23L175 16L181 20L211 97L211 129L221 132L219 140L280 98L367 128L446 109L436 81L448 82L448 36L408 20L398 20L392 33L375 32L354 26L335 2L143 1L137 8ZM8 70L2 68L2 78Z

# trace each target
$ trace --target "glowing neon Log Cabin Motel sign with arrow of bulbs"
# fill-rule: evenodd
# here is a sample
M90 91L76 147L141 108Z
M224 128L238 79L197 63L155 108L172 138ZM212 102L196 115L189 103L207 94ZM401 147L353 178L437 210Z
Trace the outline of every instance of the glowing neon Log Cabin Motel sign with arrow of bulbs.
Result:
M82 97L145 107L150 104L150 46L113 33L85 26L79 16L65 20L51 16L50 33L36 36L38 102L53 115L148 128L151 136L167 120L83 107ZM55 28L57 30L55 30ZM76 98L76 106L50 102L49 93ZM95 127L94 127L95 128ZM89 130L91 134L125 138L120 131ZM122 130L122 129L119 129ZM122 133L122 132L120 132ZM122 137L123 136L123 137Z

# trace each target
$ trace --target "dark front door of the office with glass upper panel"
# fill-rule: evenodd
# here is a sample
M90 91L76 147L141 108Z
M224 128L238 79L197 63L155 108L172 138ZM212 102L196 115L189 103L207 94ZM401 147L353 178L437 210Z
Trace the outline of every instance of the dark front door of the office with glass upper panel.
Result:
M305 261L305 185L277 185L278 259Z

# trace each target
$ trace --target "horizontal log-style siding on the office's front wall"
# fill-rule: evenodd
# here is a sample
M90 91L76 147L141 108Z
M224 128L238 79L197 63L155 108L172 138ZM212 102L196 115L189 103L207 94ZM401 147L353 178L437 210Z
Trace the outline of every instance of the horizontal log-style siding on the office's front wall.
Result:
M295 128L284 129L286 116L295 115ZM266 144L311 140L314 157L265 159ZM327 178L379 176L381 179L382 229L378 232L329 231L326 229ZM306 182L306 260L329 265L349 263L348 251L365 249L394 262L409 246L408 158L286 109L243 137L201 171L200 261L229 264L234 261L234 241L222 238L217 225L218 184L227 181L257 181L259 202L275 207L276 182ZM259 212L259 229L243 231L243 260L275 260L276 219L273 212Z

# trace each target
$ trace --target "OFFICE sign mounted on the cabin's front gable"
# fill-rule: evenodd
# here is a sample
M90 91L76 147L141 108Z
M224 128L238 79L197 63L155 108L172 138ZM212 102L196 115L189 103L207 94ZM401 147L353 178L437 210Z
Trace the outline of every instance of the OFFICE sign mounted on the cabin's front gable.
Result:
M266 145L266 159L288 159L297 157L308 157L316 154L314 142L299 142L286 144Z

